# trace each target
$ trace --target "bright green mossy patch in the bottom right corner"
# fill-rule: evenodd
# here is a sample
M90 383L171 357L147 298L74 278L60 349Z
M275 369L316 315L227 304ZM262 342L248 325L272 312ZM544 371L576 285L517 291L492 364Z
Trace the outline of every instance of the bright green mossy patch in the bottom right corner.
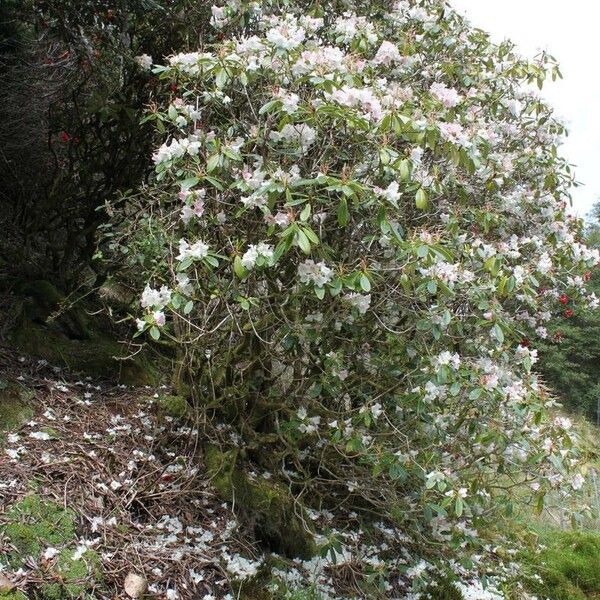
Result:
M525 564L538 575L528 586L540 599L587 600L600 597L600 534L548 531L545 548L529 552Z

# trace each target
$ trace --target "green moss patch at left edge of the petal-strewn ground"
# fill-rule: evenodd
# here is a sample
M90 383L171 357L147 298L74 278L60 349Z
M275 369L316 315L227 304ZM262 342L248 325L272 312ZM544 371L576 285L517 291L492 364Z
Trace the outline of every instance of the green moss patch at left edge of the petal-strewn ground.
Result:
M16 552L9 563L17 568L28 556L37 557L49 546L64 546L75 539L75 513L39 496L26 496L4 516L2 531Z

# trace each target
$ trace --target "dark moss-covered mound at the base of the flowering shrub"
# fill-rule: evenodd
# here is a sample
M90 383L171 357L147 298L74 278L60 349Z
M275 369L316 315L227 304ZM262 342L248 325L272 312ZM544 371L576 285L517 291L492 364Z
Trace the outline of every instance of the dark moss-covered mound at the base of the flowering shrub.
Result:
M238 466L237 450L222 452L209 446L206 465L219 497L235 503L240 516L254 526L264 546L289 558L308 559L316 554L313 535L298 516L302 509L287 488L264 479L251 479Z

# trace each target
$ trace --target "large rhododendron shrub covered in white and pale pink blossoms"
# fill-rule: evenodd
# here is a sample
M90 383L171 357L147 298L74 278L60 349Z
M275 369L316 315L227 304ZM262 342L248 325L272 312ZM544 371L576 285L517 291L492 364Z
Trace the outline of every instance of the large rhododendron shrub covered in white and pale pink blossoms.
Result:
M563 296L597 304L598 252L531 85L553 60L442 2L368 4L214 7L213 40L154 67L138 328L300 502L417 544L386 576L410 587L442 554L490 567L480 536L516 498L581 487L535 342Z

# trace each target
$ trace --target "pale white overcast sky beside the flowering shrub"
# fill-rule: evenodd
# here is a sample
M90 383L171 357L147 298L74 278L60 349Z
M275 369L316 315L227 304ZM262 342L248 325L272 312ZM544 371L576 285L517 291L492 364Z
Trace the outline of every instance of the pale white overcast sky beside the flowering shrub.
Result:
M598 0L450 0L493 41L512 40L524 56L547 50L564 79L549 81L543 95L566 123L562 154L575 165L574 212L584 217L600 199L600 76Z

